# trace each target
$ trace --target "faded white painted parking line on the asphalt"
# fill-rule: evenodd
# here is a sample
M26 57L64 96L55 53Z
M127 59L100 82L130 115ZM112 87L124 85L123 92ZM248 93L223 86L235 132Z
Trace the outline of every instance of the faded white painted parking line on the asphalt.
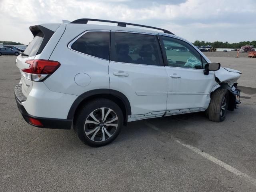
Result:
M160 131L159 128L157 128L156 126L154 126L153 124L151 124L151 123L149 123L149 122L146 122L145 124L146 124L148 127L152 128L152 129L154 129L154 130ZM162 132L162 131L161 131L161 132ZM236 168L234 168L234 167L232 167L232 166L230 166L230 165L228 165L228 164L222 162L221 160L218 160L217 158L215 158L215 157L213 157L213 156L207 154L206 152L202 152L202 150L200 150L200 149L198 149L198 148L196 148L196 147L190 146L190 145L188 145L188 144L184 144L183 142L177 140L175 137L172 137L172 136L171 136L171 138L172 138L175 142L181 144L182 146L184 146L184 147L186 147L186 148L192 150L193 152L195 152L195 153L201 155L202 157L204 157L204 158L206 158L206 159L208 159L208 160L214 162L215 164L217 164L217 165L219 165L219 166L222 166L224 169L228 170L229 172L234 173L235 175L237 175L237 176L243 178L243 179L246 180L247 182L250 182L251 184L253 184L253 185L256 186L256 179L252 178L251 176L249 176L249 175L247 175L247 174L245 174L245 173L243 173L243 172L237 170Z

